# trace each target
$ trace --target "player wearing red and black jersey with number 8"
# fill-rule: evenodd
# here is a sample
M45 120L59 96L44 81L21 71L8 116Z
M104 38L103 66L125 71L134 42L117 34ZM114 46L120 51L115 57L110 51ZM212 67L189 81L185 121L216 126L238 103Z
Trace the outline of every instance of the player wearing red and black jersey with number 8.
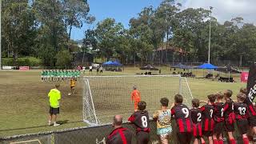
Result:
M138 102L138 111L134 112L128 119L136 128L138 144L150 142L150 118L146 109L146 102Z

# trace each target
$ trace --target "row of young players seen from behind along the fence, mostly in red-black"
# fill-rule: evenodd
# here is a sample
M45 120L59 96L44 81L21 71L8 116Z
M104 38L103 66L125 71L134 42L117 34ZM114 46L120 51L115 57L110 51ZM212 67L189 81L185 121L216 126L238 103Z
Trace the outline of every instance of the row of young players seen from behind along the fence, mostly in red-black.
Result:
M232 91L225 90L224 93L210 94L207 96L206 105L199 108L200 101L192 100L193 108L190 110L185 104L182 104L182 95L176 94L174 104L168 109L168 98L161 99L161 110L154 113L154 120L157 121L157 134L159 142L166 144L170 142L172 133L171 118L174 117L178 131L178 143L190 143L192 138L194 144L206 143L203 136L208 138L210 144L222 144L222 134L224 131L229 136L230 144L237 143L234 139L234 124L237 123L238 131L244 144L249 144L247 131L252 130L256 134L256 111L253 102L246 96L246 89L241 89L237 95L237 102L231 99ZM224 100L225 99L225 103ZM147 113L146 102L138 102L138 111L128 119L136 126L138 143L148 143L150 141L150 123ZM111 135L112 134L112 135ZM114 136L111 133L107 143ZM126 136L129 134L126 133ZM252 138L254 140L254 138ZM127 143L129 143L127 142Z

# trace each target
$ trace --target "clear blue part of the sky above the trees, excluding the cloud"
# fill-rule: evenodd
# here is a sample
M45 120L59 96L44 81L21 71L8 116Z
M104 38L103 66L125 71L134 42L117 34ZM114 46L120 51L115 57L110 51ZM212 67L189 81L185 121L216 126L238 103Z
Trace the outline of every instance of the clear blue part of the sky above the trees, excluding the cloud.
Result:
M88 0L88 2L90 14L96 17L96 22L105 18L114 18L116 22L122 22L127 28L130 18L137 17L146 6L158 7L162 0ZM71 38L75 40L84 38L86 27L74 29Z

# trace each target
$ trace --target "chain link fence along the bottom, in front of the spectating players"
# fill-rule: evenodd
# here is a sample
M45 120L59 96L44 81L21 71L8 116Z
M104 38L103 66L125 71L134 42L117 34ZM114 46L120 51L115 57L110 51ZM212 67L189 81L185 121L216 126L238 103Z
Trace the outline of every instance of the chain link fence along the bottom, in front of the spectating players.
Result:
M134 126L124 123L123 127L130 129L134 133L132 143L136 143ZM176 126L173 121L174 131L170 137L170 144L178 144L176 138ZM105 144L107 135L113 130L111 124L101 126L79 127L69 130L59 130L40 134L26 134L7 138L0 138L0 144ZM156 122L150 122L150 144L158 144L158 135L156 134ZM242 143L242 138L235 131L237 143ZM227 142L224 136L224 143ZM206 138L205 138L206 140ZM192 143L192 142L190 142ZM207 142L206 142L207 143ZM188 142L189 144L189 142Z

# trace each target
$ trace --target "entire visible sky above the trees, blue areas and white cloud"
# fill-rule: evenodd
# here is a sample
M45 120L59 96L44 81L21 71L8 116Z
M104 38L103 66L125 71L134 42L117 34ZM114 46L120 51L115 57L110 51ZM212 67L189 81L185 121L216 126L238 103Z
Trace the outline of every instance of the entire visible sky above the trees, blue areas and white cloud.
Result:
M88 0L90 13L96 17L96 23L105 18L114 18L116 22L129 28L130 18L137 17L138 13L146 6L157 8L162 0ZM182 9L214 7L213 16L218 22L225 22L231 18L242 17L244 22L256 25L256 0L177 0L182 3ZM74 28L71 38L79 40L84 38L84 31L88 26L81 29Z

